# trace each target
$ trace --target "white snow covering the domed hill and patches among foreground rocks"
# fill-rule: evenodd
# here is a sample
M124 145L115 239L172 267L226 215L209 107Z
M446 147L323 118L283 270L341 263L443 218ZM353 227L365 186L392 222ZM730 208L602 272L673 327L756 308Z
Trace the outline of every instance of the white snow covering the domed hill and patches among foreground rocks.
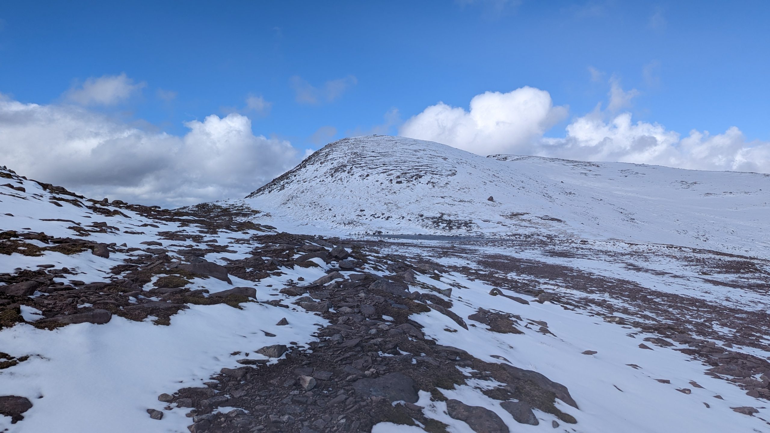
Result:
M128 217L107 218L65 201L57 206L51 203L55 193L37 183L9 181L26 191L0 186L0 231L74 237L68 228L73 223L88 227L107 220L119 230L92 233L87 239L145 248L141 242L159 240L161 231L199 230L125 209ZM493 200L487 200L490 196ZM357 238L372 247L372 263L387 263L395 255L409 263L436 263L435 271L417 269L410 290L451 301L451 310L472 326L459 327L437 310L412 314L410 320L423 326L427 339L459 347L486 362L540 372L564 384L577 403L574 408L557 400L557 408L574 416L577 424L558 421L554 427L554 415L535 409L539 424L524 425L482 392L494 386L490 381L469 378L467 384L441 390L447 398L494 411L511 432L770 433L767 397L746 394L729 377L706 375L710 365L679 350L691 347L685 342L661 347L644 341L658 334L605 320L675 324L718 347L748 333L751 341L725 347L770 359L765 314L770 310L768 175L531 156L484 158L438 143L367 136L324 147L246 199L218 203L247 204L262 211L249 219L278 230ZM160 227L140 227L145 223ZM368 236L380 232L423 236ZM236 253L209 253L205 258L225 264L223 257L248 257L257 245L246 240L256 234L223 230L206 235ZM426 236L447 234L462 236ZM162 242L176 257L179 248ZM89 251L48 251L40 257L0 254L0 274L50 263L75 270L78 274L72 278L78 280L108 280L114 277L111 267L140 253L113 252L109 258ZM316 263L320 267L280 267L283 275L258 282L232 277L230 285L196 278L189 288L214 293L255 287L258 300L289 303L292 299L277 297L278 290L289 280L312 281L331 269L323 260ZM360 271L390 274L375 264ZM506 281L510 286L503 285ZM530 292L517 293L517 287L558 299L537 302L535 295L524 294ZM447 288L453 289L450 296L439 291ZM494 288L529 303L491 296ZM500 334L470 321L468 316L479 308L522 317L522 334ZM169 326L113 316L107 324L45 331L30 324L39 317L34 309L24 308L22 315L29 323L0 329L0 352L30 356L0 369L0 396L23 396L33 403L24 420L15 424L0 415L0 431L12 433L188 431L188 409L163 410L159 394L203 386L220 368L239 366L234 351L290 342L306 347L317 340L315 332L329 324L310 311L254 303L242 310L224 304L190 305L172 316ZM281 317L290 325L273 326ZM276 337L266 337L263 331ZM417 364L420 354L413 356ZM770 370L766 374L770 376ZM762 374L750 378L765 380ZM465 422L451 418L447 404L432 399L427 390L420 391L417 405L451 433L473 432ZM733 410L742 407L758 412ZM148 408L162 410L165 416L151 419ZM381 423L372 431L423 428Z

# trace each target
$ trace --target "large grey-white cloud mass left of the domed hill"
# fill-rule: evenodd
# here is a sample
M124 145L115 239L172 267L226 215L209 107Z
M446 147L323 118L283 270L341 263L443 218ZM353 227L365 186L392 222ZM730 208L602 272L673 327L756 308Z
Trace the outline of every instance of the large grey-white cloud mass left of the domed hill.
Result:
M85 196L182 206L242 197L299 163L285 140L230 113L151 133L76 106L0 98L0 165Z

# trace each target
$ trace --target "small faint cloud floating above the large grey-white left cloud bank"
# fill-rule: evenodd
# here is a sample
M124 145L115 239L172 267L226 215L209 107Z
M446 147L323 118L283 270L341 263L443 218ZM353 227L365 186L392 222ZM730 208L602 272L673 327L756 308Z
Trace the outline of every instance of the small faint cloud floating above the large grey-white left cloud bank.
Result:
M134 82L123 72L119 76L86 79L81 86L69 89L65 98L82 106L113 106L129 99L145 86L146 83Z

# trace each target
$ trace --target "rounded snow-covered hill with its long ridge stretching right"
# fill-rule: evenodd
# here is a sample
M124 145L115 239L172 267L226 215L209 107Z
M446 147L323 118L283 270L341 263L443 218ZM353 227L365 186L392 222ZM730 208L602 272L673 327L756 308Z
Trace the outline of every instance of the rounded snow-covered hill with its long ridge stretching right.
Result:
M246 203L305 232L542 233L770 252L770 175L484 158L403 137L331 143Z

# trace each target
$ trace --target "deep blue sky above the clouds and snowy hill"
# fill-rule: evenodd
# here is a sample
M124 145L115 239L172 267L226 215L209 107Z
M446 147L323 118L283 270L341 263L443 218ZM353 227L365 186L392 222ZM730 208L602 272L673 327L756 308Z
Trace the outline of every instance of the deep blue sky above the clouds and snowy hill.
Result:
M606 125L628 112L631 125L681 137L735 126L741 149L770 141L768 2L5 2L0 19L6 99L79 106L148 133L184 136L190 121L235 112L300 153L373 132L474 151L404 123L437 102L468 110L484 92L531 86L563 112L527 146L490 149L638 158L531 145L569 138L591 112ZM128 90L114 99L77 97L89 79L121 74ZM620 102L608 112L613 83Z

